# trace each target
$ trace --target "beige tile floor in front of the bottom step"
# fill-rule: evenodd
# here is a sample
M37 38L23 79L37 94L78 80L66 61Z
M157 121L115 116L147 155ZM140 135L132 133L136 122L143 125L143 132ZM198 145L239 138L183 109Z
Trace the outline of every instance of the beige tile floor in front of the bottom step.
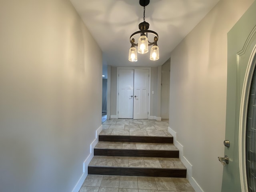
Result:
M186 178L88 175L79 192L194 192Z

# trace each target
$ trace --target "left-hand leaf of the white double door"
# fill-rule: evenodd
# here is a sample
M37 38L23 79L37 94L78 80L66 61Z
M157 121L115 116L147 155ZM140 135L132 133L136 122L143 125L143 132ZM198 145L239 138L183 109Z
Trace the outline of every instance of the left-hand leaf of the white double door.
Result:
M133 118L134 70L118 70L118 118Z

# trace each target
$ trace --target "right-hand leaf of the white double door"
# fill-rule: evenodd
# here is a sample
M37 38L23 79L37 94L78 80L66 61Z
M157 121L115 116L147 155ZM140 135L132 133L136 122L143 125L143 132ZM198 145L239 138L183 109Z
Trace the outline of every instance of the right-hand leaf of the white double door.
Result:
M134 119L148 119L148 69L134 69Z

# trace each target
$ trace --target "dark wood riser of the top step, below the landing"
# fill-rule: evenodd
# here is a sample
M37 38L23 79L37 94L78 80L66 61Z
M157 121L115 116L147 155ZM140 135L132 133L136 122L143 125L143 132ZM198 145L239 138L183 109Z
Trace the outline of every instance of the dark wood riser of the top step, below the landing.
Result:
M172 137L99 135L99 141L173 143Z

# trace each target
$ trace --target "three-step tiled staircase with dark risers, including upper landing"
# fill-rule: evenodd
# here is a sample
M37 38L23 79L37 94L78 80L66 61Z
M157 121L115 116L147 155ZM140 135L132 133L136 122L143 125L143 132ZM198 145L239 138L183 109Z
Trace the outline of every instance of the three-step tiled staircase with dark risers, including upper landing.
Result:
M186 178L167 122L107 120L88 174Z

